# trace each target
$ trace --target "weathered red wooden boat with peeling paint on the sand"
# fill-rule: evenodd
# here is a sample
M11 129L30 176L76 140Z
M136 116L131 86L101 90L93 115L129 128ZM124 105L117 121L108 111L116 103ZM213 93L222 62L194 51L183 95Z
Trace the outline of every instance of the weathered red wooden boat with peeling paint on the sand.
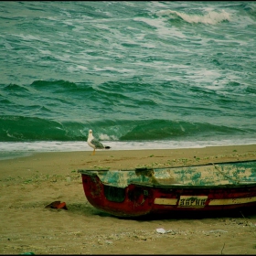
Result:
M256 160L78 172L91 205L118 217L256 206Z

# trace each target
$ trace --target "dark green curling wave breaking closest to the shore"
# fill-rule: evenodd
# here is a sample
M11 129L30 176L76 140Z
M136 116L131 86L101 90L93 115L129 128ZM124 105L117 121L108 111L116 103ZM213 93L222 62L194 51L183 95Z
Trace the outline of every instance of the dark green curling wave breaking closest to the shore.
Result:
M253 133L237 127L167 120L101 120L57 122L37 117L1 116L0 138L5 142L86 141L89 129L105 141L181 140L193 137Z

